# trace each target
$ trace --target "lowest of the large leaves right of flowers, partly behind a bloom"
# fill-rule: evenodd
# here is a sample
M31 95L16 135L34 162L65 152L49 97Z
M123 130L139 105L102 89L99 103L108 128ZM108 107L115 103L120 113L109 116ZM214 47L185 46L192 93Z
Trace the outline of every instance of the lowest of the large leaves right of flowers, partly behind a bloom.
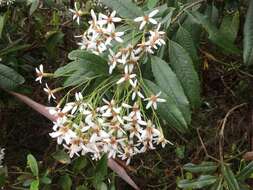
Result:
M164 119L170 127L182 133L186 132L188 130L187 123L177 105L168 98L166 93L155 83L145 80L145 85L152 94L157 94L161 91L161 98L166 99L166 102L158 104L159 116Z

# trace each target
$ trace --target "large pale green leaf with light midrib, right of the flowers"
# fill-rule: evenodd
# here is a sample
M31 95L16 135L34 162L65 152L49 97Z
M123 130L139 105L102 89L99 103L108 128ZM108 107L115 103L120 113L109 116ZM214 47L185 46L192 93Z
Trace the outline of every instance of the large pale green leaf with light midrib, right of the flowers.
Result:
M171 70L168 63L156 56L151 57L151 66L156 83L168 95L167 97L178 106L189 124L191 122L189 102L175 73Z

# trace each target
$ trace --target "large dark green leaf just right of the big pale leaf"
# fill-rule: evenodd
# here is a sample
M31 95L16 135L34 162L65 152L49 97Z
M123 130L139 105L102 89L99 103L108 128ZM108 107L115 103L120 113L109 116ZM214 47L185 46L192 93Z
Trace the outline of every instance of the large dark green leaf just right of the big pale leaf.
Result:
M186 50L176 42L169 42L171 67L176 73L193 108L200 105L200 81Z

